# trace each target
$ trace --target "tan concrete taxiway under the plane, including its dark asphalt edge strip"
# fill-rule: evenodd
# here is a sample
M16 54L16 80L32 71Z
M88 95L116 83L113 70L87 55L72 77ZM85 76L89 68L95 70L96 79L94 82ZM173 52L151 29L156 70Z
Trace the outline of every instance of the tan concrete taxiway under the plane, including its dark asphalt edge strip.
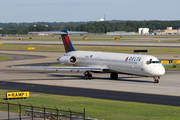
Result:
M167 71L161 77L159 84L153 83L152 78L119 75L118 80L110 80L109 74L95 73L93 73L92 80L84 80L83 71L77 73L76 71L6 67L21 64L56 63L56 59L64 52L0 51L0 53L48 56L0 61L0 89L180 106L180 71ZM179 54L156 54L154 56L158 56L160 59L174 57L180 59Z

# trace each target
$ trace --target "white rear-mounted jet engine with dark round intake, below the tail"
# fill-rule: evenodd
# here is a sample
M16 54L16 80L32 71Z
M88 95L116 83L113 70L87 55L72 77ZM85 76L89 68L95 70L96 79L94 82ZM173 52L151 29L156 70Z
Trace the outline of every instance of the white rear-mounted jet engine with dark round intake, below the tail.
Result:
M74 65L77 63L77 59L74 56L63 56L57 60L63 65Z

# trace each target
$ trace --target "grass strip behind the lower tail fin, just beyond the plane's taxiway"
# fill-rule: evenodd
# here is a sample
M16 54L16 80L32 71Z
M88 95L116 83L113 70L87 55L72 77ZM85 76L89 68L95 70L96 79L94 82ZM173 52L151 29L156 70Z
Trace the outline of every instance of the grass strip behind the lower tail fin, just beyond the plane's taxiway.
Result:
M63 45L11 45L2 44L0 50L27 50L28 47L35 47L34 51L64 51ZM115 53L133 53L134 50L147 49L147 54L180 54L180 48L165 47L118 47L118 46L75 46L77 50L101 51Z

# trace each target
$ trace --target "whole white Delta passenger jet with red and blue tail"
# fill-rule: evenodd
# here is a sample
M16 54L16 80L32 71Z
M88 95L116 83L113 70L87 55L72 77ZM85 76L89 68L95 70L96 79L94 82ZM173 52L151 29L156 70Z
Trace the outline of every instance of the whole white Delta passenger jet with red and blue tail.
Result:
M84 78L92 79L92 73L110 73L111 79L118 79L118 74L153 77L154 83L165 74L165 65L154 56L127 53L93 52L76 50L69 34L83 34L87 32L75 32L68 30L29 32L29 34L58 34L61 35L65 48L64 56L57 59L62 65L73 67L45 67L45 66L11 66L15 68L56 69L85 71Z

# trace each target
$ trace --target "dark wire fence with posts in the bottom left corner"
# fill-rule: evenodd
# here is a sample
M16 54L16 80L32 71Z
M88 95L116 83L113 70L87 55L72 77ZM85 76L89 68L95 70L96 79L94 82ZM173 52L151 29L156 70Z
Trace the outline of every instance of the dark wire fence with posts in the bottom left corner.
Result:
M34 120L35 118L41 118L41 119L50 119L50 120L97 120L92 118L85 118L85 109L82 113L80 112L74 112L69 110L59 110L56 107L53 108L46 108L42 105L42 107L37 107L33 105L22 105L20 103L14 104L14 103L8 103L6 102L0 102L0 107L4 111L7 112L7 119L8 120L22 120L22 119L28 119L28 120ZM18 113L17 113L18 111ZM16 115L12 114L16 112Z

